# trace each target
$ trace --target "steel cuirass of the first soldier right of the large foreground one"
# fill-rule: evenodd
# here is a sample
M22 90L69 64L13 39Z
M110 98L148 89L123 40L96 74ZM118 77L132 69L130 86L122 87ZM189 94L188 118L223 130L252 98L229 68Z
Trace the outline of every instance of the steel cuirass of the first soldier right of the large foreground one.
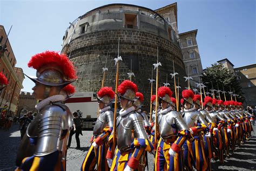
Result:
M110 110L104 111L99 114L93 128L93 135L97 136L102 134L103 129L106 127L113 127L113 112Z

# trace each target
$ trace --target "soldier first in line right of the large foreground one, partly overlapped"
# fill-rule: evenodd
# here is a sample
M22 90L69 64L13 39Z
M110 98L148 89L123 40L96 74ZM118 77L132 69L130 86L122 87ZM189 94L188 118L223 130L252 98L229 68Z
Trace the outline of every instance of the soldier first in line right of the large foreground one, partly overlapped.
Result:
M112 87L103 87L97 93L99 104L99 117L93 128L92 145L89 148L82 165L82 171L109 170L112 163L112 136L113 130L113 112L110 105L113 102L114 92ZM109 151L108 151L109 149ZM106 159L109 158L110 160Z

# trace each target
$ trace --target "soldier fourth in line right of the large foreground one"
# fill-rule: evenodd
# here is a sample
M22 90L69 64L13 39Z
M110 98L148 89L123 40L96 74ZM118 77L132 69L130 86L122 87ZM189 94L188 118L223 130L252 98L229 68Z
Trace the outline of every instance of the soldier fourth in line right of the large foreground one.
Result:
M188 170L193 170L192 165L197 170L206 170L207 162L205 158L204 144L202 140L201 131L207 128L208 122L204 119L203 115L194 108L193 98L194 93L192 90L182 91L184 99L184 112L182 114L183 120L190 128L194 137L194 141L186 141L184 143L184 161L185 167Z

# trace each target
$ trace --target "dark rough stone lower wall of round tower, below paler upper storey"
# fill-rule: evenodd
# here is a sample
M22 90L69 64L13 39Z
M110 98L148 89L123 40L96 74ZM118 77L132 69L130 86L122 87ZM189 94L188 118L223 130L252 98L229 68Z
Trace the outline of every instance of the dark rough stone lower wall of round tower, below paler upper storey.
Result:
M77 67L78 81L74 83L77 92L99 90L102 85L102 68L105 63L109 69L105 86L112 86L114 90L116 66L114 66L113 59L118 55L118 37L120 38L119 55L123 58L120 63L119 80L128 79L127 73L130 72L132 59L132 72L136 76L132 81L144 94L146 100L144 104L148 105L150 100L150 84L147 79L151 78L153 64L157 62L157 46L159 47L159 61L162 64L159 70L159 86L163 86L166 82L167 74L168 82L173 90L173 79L170 76L170 73L173 73L172 60L174 60L175 71L179 73L180 86L186 86L183 78L186 72L180 47L153 33L133 29L116 29L87 33L73 39L69 49L62 50L67 52ZM156 79L156 71L153 71L153 78Z

